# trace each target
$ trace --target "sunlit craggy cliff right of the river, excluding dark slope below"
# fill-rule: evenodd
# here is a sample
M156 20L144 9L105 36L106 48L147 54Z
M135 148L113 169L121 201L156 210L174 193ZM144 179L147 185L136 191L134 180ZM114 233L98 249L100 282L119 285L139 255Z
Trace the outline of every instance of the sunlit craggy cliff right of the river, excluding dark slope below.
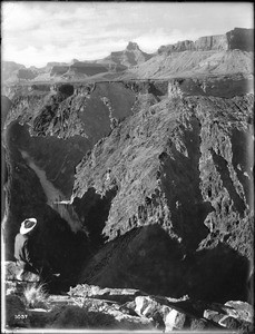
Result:
M75 196L91 187L102 195L117 187L105 228L110 239L118 230L154 222L196 248L207 235L209 213L215 229L225 225L223 217L239 220L249 212L251 189L237 171L252 179L252 96L141 105L77 167ZM238 157L243 167L237 169L233 150L241 140L247 155Z

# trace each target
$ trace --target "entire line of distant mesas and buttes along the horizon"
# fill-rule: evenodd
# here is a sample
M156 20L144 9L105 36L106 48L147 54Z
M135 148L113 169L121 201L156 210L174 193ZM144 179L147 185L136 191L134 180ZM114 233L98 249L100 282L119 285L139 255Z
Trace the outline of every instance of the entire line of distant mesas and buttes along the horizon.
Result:
M224 35L183 40L158 48L155 53L140 50L129 41L121 51L97 60L50 61L42 68L26 68L2 62L4 84L22 81L72 81L108 79L169 79L253 73L254 29L235 28Z

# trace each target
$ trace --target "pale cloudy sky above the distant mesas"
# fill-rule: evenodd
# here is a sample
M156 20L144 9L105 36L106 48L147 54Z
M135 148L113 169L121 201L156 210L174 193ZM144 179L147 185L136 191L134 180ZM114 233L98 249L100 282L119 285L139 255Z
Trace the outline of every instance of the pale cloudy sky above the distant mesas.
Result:
M27 67L101 59L129 41L163 45L253 28L253 2L2 1L2 60Z

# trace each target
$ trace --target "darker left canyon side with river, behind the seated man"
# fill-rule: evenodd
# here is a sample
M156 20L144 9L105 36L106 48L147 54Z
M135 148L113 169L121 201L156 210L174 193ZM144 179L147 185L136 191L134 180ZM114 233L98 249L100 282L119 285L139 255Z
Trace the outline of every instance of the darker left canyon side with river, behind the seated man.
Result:
M45 249L52 266L69 273L79 268L79 262L89 254L90 240L84 217L72 206L75 167L118 121L133 114L136 95L122 82L33 85L10 90L12 102L2 99L8 258L13 257L20 223L36 216L40 226L38 247ZM95 194L91 198L97 206L109 202ZM91 227L91 240L95 233L98 236L95 245L102 243L100 232L100 224Z

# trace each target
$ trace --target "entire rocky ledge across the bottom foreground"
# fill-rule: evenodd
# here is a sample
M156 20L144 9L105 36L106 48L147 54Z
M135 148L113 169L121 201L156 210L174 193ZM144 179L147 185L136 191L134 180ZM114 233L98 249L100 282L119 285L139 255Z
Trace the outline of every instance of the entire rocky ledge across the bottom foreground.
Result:
M253 307L245 302L207 303L188 296L177 299L148 295L138 289L100 288L88 284L70 288L66 295L45 296L28 305L22 295L22 284L9 282L6 311L8 330L84 328L158 333L232 330L232 333L253 333Z

